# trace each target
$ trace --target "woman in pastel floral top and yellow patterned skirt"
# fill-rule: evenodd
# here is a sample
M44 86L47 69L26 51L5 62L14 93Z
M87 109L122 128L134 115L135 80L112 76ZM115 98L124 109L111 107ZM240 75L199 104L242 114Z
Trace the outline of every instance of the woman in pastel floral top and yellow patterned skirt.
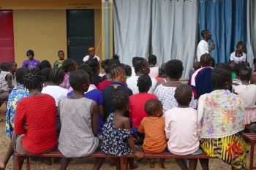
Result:
M220 158L236 169L246 169L249 150L241 137L244 102L228 90L232 85L230 69L215 67L211 72L211 85L214 91L203 94L198 100L198 120L202 123L200 147L210 157ZM200 163L203 169L209 169L208 159Z

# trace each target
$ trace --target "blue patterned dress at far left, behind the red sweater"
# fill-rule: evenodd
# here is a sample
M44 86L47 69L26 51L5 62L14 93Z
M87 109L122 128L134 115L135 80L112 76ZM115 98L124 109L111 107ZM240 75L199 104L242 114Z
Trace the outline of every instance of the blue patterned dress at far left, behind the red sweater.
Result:
M24 85L17 85L12 89L7 102L7 117L5 124L5 132L7 136L12 139L12 131L14 131L14 117L18 101L24 97L29 96L29 91L26 90Z

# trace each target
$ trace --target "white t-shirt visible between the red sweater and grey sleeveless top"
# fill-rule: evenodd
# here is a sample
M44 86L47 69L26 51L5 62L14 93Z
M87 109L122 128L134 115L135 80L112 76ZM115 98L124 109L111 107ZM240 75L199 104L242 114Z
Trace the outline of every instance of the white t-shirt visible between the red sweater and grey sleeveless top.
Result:
M58 107L59 101L67 98L67 93L69 93L69 90L61 88L57 85L48 85L45 88L42 88L42 93L52 96L55 99L56 107Z

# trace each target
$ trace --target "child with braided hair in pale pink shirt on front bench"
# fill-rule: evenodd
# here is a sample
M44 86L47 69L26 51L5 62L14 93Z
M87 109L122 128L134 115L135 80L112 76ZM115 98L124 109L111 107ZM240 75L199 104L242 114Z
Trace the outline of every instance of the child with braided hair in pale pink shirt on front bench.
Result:
M178 107L165 112L168 149L175 155L200 155L203 153L199 149L200 122L197 121L197 110L189 107L192 88L189 85L178 85L174 97ZM184 159L176 158L175 160L181 169L188 169ZM196 166L197 159L189 159L189 169L196 169Z

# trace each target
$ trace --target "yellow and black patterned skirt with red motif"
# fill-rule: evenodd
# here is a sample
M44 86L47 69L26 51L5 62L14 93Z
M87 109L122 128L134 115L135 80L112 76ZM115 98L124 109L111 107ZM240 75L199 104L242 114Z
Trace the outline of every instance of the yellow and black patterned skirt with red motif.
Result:
M249 150L238 133L222 138L201 139L200 147L212 158L220 158L238 170L246 169L246 154Z

